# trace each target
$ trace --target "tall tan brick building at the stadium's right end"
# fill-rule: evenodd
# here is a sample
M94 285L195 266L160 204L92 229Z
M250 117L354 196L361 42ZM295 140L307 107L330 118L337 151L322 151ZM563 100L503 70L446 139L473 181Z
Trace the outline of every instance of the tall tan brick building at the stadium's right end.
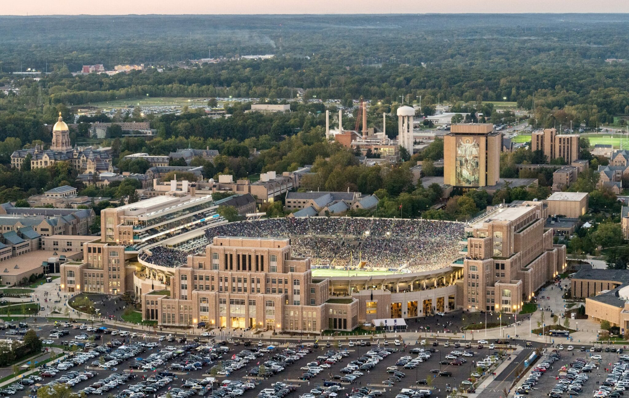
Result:
M496 206L465 228L465 309L520 312L565 269L565 246L553 244L546 217L543 202L522 202Z

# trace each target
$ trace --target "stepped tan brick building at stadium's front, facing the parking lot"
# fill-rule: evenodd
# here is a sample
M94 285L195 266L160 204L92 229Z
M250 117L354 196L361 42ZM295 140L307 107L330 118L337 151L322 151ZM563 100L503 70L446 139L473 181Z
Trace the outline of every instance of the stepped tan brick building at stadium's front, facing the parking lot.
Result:
M358 302L330 299L313 281L309 258L287 239L216 237L175 268L169 289L143 294L144 319L196 325L321 333L358 326Z

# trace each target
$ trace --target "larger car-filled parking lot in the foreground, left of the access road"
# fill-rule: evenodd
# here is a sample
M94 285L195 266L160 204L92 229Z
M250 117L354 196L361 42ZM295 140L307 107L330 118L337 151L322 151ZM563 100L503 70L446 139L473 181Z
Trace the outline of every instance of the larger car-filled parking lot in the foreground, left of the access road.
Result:
M19 333L18 327L10 330ZM435 393L445 393L448 387L467 388L461 383L475 372L476 362L490 353L489 345L479 348L474 344L466 348L465 343L457 346L450 343L446 347L443 342L433 346L432 341L426 342L423 352L420 345L404 348L394 345L392 340L387 345L381 341L380 346L367 341L362 346L358 341L354 346L343 342L340 347L333 343L329 346L326 343L278 343L269 347L268 341L256 340L213 344L211 338L204 337L199 341L184 341L181 336L157 338L133 331L69 324L44 326L38 335L49 345L67 348L76 345L79 351L65 364L41 369L43 380L31 378L32 386L27 380L25 390L19 394L51 382L65 382L73 392L85 392L88 396L112 394L118 398L150 398L152 394L157 398L167 392L174 398L189 398L199 393L214 394L213 398L224 398L224 395L228 398L240 395L279 398L288 393L292 394L288 398L303 395L303 398L311 398L306 394L318 392L315 387L327 382L325 384L338 383L334 388L343 394L352 395L352 389L369 388L356 392L353 398L364 398L369 391L372 395L368 398L376 394L394 398L409 387L415 391L431 389ZM452 351L459 352L452 354ZM214 377L216 383L208 377ZM232 383L221 389L224 380ZM264 389L274 388L271 385L277 382L286 384L286 389L277 387L276 394L259 395ZM4 393L12 395L10 390ZM323 397L335 397L330 394L336 392L320 393ZM313 397L316 395L319 394Z

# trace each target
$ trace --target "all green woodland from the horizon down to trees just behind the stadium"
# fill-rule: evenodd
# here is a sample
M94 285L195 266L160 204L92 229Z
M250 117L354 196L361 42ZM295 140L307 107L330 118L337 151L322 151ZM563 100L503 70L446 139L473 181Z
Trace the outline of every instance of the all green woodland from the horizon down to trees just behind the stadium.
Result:
M457 113L479 112L492 123L513 123L514 113L499 110L499 102L513 101L529 111L535 127L627 120L627 23L625 14L0 17L0 86L19 89L19 94L0 92L0 201L24 199L58 184L75 185L92 197L132 196L131 182L86 187L66 164L18 171L9 167L9 156L19 148L48 145L51 135L44 124L55 123L58 112L71 121L92 102L147 96L200 97L214 104L213 97L229 96L285 101L291 113L247 113L248 101L230 102L231 116L217 119L188 107L160 116L144 115L140 108L82 115L78 121L84 124L70 133L72 143L90 139L89 123L147 120L157 131L153 140L123 138L115 127L107 131L102 143L113 147L121 171L148 168L142 160L123 160L129 153L167 155L188 146L219 150L214 162L193 160L205 177L245 178L311 164L314 174L304 180L305 189L375 193L381 202L366 213L380 216L467 219L489 204L547 197L552 184L547 169L515 169L516 163L545 161L540 153L518 150L503 155L501 174L537 177L538 187L506 187L494 196L455 192L442 201L437 184L413 184L409 171L421 160L425 175L442 175L433 164L443 157L442 141L405 162L365 167L350 150L324 140L326 106L309 100L339 99L337 105L347 109L364 97L371 101L369 125L381 129L387 113L389 136L396 135L396 108L420 97L423 116L438 102L448 102ZM209 54L226 60L189 62ZM275 57L239 57L256 54ZM106 69L145 64L147 69L72 75L91 64ZM15 73L28 68L51 73L41 79ZM304 90L299 100L298 89ZM352 125L353 118L344 123ZM591 157L588 148L582 141L591 169L573 189L592 192L591 207L604 219L608 209L617 213L620 205L610 192L596 190L596 168L606 160ZM443 202L440 209L434 206L438 202ZM282 215L281 203L276 207L264 210Z

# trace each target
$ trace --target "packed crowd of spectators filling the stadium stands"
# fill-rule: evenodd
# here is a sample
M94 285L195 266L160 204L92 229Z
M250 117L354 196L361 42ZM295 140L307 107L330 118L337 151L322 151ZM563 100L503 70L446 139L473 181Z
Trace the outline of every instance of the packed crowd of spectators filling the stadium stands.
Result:
M445 267L459 257L463 233L464 224L450 221L313 217L222 224L196 239L211 243L215 236L291 238L293 255L309 257L315 266L355 267L364 260L370 267L418 272ZM203 251L204 246L196 244L157 246L150 249L151 255L140 256L150 263L178 267L186 263L187 255Z

